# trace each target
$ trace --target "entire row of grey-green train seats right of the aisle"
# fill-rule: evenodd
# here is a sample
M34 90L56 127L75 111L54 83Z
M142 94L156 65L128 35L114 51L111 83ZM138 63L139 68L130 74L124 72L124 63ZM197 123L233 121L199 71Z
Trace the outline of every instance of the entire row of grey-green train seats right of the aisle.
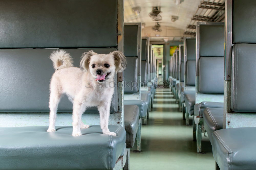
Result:
M171 90L186 125L193 117L197 152L206 131L216 169L256 165L255 7L255 1L226 0L225 23L197 22L196 38L185 37L170 60Z

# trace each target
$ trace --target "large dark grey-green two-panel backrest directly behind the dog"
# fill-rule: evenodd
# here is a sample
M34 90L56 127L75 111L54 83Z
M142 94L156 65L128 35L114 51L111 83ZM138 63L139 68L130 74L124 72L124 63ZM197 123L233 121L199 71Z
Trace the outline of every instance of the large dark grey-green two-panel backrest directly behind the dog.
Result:
M77 67L82 53L88 50L104 54L123 51L122 1L4 0L0 10L0 67L8 70L0 75L2 113L49 112L49 83L54 69L48 57L56 50L52 48L65 48ZM98 22L92 22L95 20ZM116 83L123 83L122 79L123 73L115 77ZM111 113L120 112L114 117L121 122L111 123L123 125L123 104L118 102L123 94L118 88L122 86L115 89ZM72 112L67 97L62 98L58 112ZM88 108L88 112L98 110Z

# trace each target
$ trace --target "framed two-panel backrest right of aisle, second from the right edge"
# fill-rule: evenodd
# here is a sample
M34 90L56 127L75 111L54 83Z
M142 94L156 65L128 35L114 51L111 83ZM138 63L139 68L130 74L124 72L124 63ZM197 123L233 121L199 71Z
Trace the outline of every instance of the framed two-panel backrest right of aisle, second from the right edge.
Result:
M224 22L197 22L197 93L224 92Z

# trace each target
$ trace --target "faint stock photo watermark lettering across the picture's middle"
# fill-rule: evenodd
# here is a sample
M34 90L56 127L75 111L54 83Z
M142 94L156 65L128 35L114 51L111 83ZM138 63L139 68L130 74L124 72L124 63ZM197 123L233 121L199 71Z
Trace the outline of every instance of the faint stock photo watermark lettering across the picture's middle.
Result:
M92 82L92 80L91 80ZM92 88L92 83L88 82L87 85L85 86L86 88ZM131 91L138 89L138 82L137 81L124 81L124 88L125 89L130 89ZM169 88L171 87L172 83L170 81L159 81L158 83L154 83L152 81L141 81L141 86L140 87L147 87L147 88ZM114 87L119 87L119 84L115 81L103 81L102 83L97 84L98 88L114 88Z

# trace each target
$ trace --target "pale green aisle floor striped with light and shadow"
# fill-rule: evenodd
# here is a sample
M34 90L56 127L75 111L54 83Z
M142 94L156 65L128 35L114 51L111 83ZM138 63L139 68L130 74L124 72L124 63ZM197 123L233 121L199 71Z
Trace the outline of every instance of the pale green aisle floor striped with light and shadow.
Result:
M214 158L208 137L202 137L202 151L205 154L196 153L192 126L185 125L169 89L156 90L153 107L148 125L142 126L142 152L133 153L134 149L131 149L131 170L213 170Z

